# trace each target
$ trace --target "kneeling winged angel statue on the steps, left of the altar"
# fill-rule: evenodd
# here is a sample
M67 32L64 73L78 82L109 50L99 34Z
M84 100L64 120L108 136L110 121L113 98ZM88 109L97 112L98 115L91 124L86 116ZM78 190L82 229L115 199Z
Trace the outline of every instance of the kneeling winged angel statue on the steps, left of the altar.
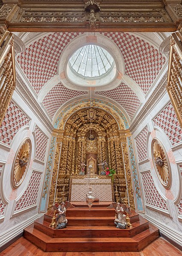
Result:
M56 214L56 230L64 229L67 226L68 220L66 218L66 210L68 209L68 207L74 208L74 206L69 201L66 201L65 203L62 202L61 205L59 205L58 207L56 205L53 206L53 208L56 209L58 212Z

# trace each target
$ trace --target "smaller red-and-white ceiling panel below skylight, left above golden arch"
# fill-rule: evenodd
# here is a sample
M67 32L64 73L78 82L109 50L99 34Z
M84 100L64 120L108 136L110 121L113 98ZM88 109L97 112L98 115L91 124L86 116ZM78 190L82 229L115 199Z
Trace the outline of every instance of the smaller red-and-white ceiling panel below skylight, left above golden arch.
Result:
M42 103L52 118L59 107L62 106L62 104L64 104L67 100L83 94L88 94L88 92L70 90L59 83L47 93Z

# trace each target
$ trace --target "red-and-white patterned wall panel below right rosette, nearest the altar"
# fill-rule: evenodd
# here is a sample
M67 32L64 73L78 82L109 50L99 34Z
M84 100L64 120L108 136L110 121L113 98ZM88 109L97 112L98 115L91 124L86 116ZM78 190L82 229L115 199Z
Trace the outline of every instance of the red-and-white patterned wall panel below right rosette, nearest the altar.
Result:
M153 177L150 171L141 174L141 177L143 181L146 203L167 211L167 204L159 194L159 191L153 182Z

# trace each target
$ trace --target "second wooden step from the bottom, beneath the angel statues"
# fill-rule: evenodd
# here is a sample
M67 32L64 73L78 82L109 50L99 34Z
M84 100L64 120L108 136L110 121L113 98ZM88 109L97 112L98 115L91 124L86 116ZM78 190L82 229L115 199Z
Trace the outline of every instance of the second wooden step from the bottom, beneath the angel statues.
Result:
M70 237L132 237L139 232L149 228L148 221L142 219L133 223L131 229L120 230L115 225L111 226L68 226L63 230L56 230L49 227L49 222L42 218L34 223L34 228L54 238Z

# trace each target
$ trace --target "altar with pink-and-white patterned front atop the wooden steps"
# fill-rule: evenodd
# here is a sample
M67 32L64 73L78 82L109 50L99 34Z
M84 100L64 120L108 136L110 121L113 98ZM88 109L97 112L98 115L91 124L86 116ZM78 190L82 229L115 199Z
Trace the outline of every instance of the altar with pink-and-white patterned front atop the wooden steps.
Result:
M86 194L89 188L92 188L92 195L98 198L99 201L112 201L112 181L110 177L95 176L95 177L72 177L70 179L70 201L86 201Z

